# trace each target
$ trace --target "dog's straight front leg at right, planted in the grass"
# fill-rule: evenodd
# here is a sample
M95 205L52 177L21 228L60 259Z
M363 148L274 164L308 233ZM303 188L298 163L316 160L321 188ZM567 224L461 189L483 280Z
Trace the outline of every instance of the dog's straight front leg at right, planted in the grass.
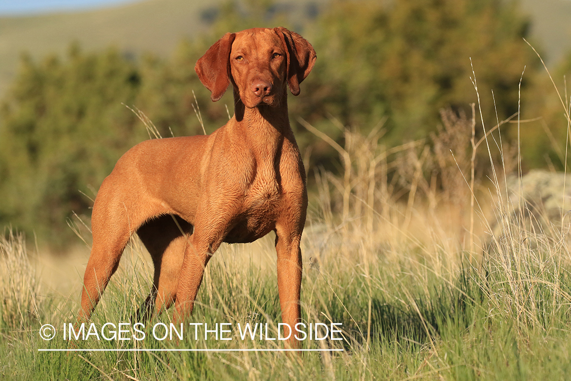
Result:
M301 292L301 229L276 226L276 253L278 254L278 291L282 320L291 328L287 346L298 348L294 338L295 324L300 322L299 298ZM287 328L286 328L287 329ZM288 332L283 332L287 335Z

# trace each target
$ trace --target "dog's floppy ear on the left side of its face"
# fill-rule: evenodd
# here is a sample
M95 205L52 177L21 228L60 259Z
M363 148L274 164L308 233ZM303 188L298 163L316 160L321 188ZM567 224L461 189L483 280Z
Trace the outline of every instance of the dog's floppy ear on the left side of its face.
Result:
M230 49L236 38L226 33L196 61L194 70L200 82L212 93L212 102L218 101L230 86Z

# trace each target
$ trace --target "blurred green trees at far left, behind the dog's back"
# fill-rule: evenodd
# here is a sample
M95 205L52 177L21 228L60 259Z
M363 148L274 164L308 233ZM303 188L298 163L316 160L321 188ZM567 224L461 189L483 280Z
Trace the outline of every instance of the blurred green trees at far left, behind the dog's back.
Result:
M110 49L61 62L23 57L0 106L0 222L53 243L71 234L66 218L87 213L124 151L146 136L121 103L140 86L135 65Z

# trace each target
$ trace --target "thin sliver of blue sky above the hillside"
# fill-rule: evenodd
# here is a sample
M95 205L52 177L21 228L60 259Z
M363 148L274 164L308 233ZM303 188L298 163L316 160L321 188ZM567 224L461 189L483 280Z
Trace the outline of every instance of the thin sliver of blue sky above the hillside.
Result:
M62 10L93 9L136 0L0 0L0 15L38 14Z

